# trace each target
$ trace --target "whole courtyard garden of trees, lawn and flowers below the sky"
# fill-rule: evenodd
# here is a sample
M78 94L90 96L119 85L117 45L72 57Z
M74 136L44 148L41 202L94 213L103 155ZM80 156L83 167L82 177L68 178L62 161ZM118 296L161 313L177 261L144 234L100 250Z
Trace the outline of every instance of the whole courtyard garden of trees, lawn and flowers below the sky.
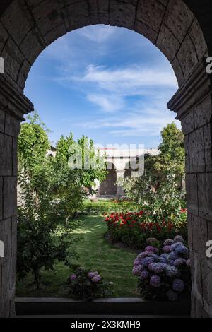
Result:
M93 199L92 187L107 170L93 141L61 136L53 158L38 115L22 125L18 297L189 296L182 136L168 125L162 137L160 155L146 156L148 172L124 179L124 198L102 200ZM95 158L95 170L70 167L78 147L83 162Z

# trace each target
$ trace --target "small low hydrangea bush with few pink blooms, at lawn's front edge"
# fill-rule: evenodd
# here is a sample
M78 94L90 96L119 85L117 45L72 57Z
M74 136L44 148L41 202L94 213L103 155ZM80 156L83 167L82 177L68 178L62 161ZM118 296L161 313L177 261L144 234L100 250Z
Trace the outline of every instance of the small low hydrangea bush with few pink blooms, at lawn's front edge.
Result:
M76 269L68 279L69 296L75 300L95 300L112 295L113 283L103 281L98 271L90 271L84 267Z

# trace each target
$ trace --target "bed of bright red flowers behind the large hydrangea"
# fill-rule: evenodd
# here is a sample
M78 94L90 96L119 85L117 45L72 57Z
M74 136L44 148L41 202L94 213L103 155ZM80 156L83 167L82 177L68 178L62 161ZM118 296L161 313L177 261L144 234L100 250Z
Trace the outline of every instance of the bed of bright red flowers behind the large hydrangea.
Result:
M183 235L187 239L187 211L181 210L175 220L157 221L148 211L111 213L105 216L113 242L122 242L134 249L143 249L146 239L156 237L162 245L167 238Z

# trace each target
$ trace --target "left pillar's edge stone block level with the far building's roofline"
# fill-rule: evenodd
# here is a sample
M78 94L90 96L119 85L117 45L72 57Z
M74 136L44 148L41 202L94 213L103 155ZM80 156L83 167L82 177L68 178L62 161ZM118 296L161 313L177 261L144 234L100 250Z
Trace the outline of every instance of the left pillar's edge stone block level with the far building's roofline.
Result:
M0 133L0 174L12 175L12 138Z

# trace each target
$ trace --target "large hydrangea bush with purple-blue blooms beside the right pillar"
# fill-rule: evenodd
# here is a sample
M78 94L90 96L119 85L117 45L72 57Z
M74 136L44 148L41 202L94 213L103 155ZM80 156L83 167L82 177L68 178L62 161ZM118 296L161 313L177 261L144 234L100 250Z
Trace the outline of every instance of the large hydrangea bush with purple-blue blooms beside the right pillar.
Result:
M166 239L161 251L153 247L154 238L148 239L148 247L134 261L133 274L139 278L138 287L146 300L175 301L189 294L191 273L189 249L184 239Z

